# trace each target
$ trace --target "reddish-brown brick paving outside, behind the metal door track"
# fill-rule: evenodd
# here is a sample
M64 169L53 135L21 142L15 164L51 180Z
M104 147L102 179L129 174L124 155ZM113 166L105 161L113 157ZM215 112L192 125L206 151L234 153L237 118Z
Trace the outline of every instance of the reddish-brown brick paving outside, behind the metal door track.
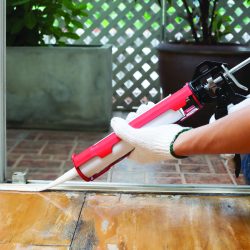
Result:
M79 153L105 136L104 133L15 130L7 131L7 176L28 170L28 179L52 180L71 165ZM194 156L157 164L138 165L123 160L96 181L146 184L245 184L220 156Z

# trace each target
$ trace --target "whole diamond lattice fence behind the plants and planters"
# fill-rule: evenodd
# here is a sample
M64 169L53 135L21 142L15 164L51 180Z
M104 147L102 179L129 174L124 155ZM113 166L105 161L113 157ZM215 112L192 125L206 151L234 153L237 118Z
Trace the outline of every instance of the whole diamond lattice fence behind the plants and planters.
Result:
M180 15L185 14L182 0L173 1L173 6L166 2L165 11L156 0L94 0L87 6L89 17L84 29L76 31L81 35L77 43L113 45L114 109L131 110L141 102L158 101L161 94L155 47L162 34L167 41L192 39L190 27ZM249 44L248 0L219 1L218 11L231 18L231 32L222 42Z

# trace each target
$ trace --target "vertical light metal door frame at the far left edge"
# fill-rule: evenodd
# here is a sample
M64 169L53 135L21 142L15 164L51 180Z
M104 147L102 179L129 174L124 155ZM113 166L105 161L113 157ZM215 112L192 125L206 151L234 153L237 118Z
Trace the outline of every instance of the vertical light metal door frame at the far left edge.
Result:
M6 0L0 1L0 182L4 181L6 167L6 106L5 106L5 19Z

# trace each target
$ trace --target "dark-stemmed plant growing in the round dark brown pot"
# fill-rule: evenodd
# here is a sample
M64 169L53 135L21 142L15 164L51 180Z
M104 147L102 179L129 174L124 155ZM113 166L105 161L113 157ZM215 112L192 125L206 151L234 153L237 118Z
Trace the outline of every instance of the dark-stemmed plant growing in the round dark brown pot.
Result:
M138 0L135 0L138 2ZM187 21L187 29L191 32L191 39L185 39L180 42L194 42L197 44L217 44L221 38L231 32L231 17L225 15L218 8L219 0L156 0L158 4L166 6L167 13L175 11L178 3L182 3L182 11L177 10L175 20L182 23ZM166 4L163 5L163 1ZM242 3L250 4L250 0L241 0ZM223 3L223 1L221 1ZM150 1L149 1L150 3ZM226 3L226 1L224 1ZM172 8L172 10L171 10ZM177 8L179 9L179 8Z

